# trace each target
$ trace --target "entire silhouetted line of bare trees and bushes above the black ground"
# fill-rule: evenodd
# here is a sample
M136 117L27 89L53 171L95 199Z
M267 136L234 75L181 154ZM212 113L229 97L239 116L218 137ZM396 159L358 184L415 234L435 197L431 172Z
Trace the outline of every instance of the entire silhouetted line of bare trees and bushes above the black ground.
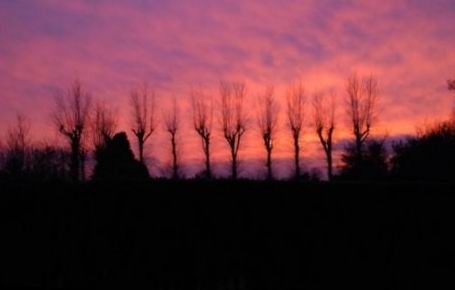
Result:
M454 90L453 81L449 81L448 85L449 90ZM215 108L215 102L203 89L197 88L190 92L192 125L201 140L204 156L204 169L196 174L196 178L215 177L211 161L214 127L221 133L229 150L230 177L238 178L240 148L246 131L251 127L244 108L246 95L244 83L222 82L219 87L219 108ZM359 78L353 75L346 81L345 96L344 115L352 139L343 149L341 166L335 168L334 136L339 128L335 93L315 93L309 98L302 84L289 88L286 93L286 124L293 148L294 158L290 166L293 166L294 179L319 178L302 170L300 157L305 150L302 148L303 128L311 125L325 156L325 176L328 180L453 180L455 115L448 121L421 129L413 137L393 142L390 147L386 137L378 138L372 135L379 117L377 80L372 76ZM144 148L156 131L159 119L156 93L143 85L132 90L130 104L131 132L137 146L137 160L144 167L141 171L145 172L147 168ZM308 105L312 108L311 113L305 110ZM217 118L214 116L215 111ZM279 130L280 113L272 87L259 95L255 113L257 129L264 146L266 179L271 180L274 178L273 149ZM60 148L49 142L34 143L30 138L30 120L18 115L16 122L6 132L4 146L0 150L2 178L85 181L101 176L108 178L107 175L111 173L115 179L131 179L135 174L138 174L138 178L143 178L144 173L139 173L133 169L135 166L131 165L135 162L135 157L126 133L118 132L118 116L106 103L93 104L92 97L79 81L56 99L56 107L51 117L55 129L67 141L67 146ZM169 176L173 179L183 178L179 156L182 144L178 138L183 120L175 98L169 110L163 112L161 119L171 144L172 162ZM219 126L214 126L214 123ZM124 145L114 150L123 152L111 154L111 147L116 146L116 142L120 140L117 138L115 141L115 136L121 136ZM126 161L125 156L132 160ZM113 160L107 160L108 158ZM114 160L116 158L118 160ZM89 159L95 161L95 169L87 173ZM120 168L123 166L122 162L125 166L123 169ZM116 164L114 168L123 172L123 175L114 173L112 164ZM108 171L103 172L103 168ZM87 176L88 174L90 176Z

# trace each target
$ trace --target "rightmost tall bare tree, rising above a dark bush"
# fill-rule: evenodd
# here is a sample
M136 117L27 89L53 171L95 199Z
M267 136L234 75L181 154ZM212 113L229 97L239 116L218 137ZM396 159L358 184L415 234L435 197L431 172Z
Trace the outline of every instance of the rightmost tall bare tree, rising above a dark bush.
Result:
M346 91L347 113L354 134L355 152L360 158L363 144L376 120L378 82L373 76L359 80L356 75L353 75L348 78Z

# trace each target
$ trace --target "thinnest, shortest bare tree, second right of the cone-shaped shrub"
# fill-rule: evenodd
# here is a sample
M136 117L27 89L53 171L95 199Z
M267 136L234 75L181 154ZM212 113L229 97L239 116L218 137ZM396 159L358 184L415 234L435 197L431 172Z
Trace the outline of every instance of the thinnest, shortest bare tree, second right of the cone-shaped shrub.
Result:
M179 178L179 159L178 159L178 148L177 148L177 133L180 128L180 120L178 118L179 110L177 99L172 99L171 109L165 113L164 126L166 132L169 133L171 139L171 154L172 154L172 179Z

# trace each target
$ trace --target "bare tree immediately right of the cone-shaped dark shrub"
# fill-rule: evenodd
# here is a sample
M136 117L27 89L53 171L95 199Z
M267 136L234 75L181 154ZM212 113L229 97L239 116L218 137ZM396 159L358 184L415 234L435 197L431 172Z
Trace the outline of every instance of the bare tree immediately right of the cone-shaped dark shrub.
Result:
M131 92L130 101L133 109L132 131L137 139L139 161L144 164L144 145L156 128L155 91L144 84Z

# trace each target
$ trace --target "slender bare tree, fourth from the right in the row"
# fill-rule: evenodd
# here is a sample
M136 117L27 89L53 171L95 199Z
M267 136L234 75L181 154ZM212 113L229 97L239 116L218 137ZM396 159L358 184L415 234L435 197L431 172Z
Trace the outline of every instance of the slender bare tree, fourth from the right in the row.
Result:
M278 104L273 96L273 88L267 88L260 96L258 126L267 153L267 179L273 178L272 150L278 124Z

